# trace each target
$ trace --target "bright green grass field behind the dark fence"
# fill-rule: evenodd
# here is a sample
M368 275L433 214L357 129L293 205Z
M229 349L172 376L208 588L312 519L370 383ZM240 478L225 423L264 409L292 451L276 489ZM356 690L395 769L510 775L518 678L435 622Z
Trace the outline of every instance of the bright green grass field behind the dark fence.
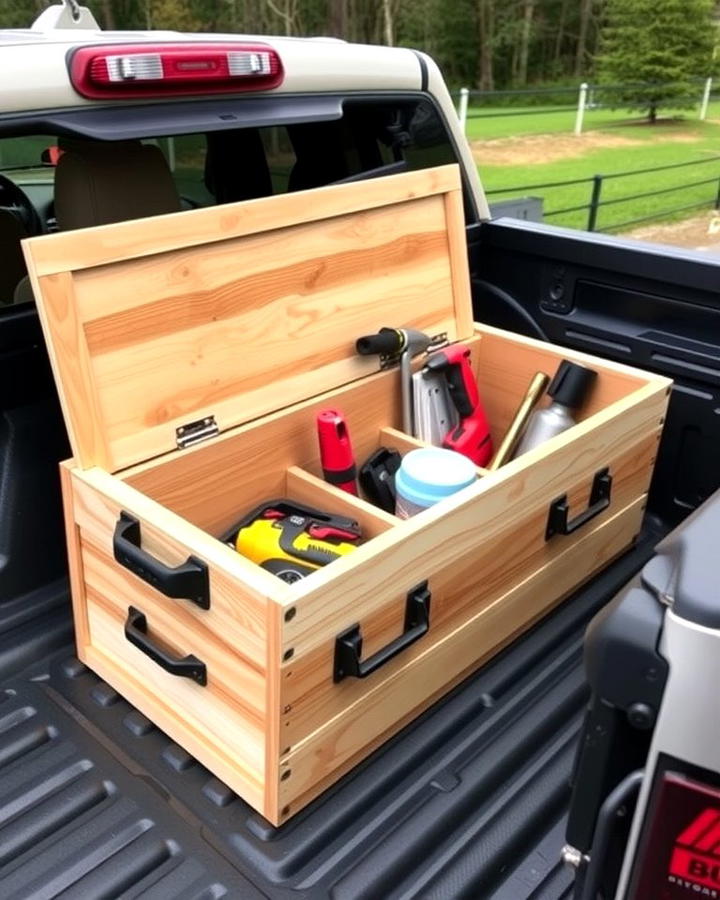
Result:
M490 193L490 202L524 195L540 196L547 213L590 202L590 182L557 188L508 191L493 193L501 188L543 184L546 182L591 179L593 175L612 175L652 166L699 161L713 156L720 157L720 125L712 121L720 119L720 102L711 104L708 118L700 122L697 113L685 112L684 118L672 123L655 126L631 124L627 111L591 111L585 120L586 130L598 130L626 137L635 145L588 148L582 155L566 157L555 162L512 165L483 165L482 140L499 137L520 137L528 134L571 133L574 114L547 113L538 116L508 116L502 118L468 120L468 136L475 142L478 168ZM673 140L675 138L675 140ZM682 140L677 140L681 138ZM540 151L541 152L541 151ZM711 183L690 186L697 181ZM665 194L642 197L622 203L601 206L596 227L614 230L624 222L651 217L652 219L681 219L692 215L693 210L667 213L673 207L703 204L710 209L718 193L720 183L720 159L699 166L688 166L669 171L630 175L604 180L601 201L616 200L630 195L678 188ZM694 212L701 211L701 208ZM549 215L547 221L571 228L587 227L587 210Z

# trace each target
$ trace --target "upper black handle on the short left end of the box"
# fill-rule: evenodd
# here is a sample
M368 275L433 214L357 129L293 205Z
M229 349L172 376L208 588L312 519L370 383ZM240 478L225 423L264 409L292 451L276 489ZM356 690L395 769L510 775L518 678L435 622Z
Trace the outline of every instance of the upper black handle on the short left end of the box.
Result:
M173 568L151 556L140 546L140 523L126 512L120 513L113 535L115 559L138 578L142 578L166 597L191 600L202 609L210 609L210 579L205 563L188 556Z

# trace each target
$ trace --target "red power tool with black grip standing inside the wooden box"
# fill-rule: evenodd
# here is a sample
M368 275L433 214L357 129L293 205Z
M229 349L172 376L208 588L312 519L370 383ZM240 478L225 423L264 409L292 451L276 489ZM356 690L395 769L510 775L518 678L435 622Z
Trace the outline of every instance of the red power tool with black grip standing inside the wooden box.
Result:
M445 376L448 393L460 416L460 422L445 435L443 447L462 453L476 466L484 466L492 457L493 446L470 366L470 350L464 344L451 344L432 353L425 367Z

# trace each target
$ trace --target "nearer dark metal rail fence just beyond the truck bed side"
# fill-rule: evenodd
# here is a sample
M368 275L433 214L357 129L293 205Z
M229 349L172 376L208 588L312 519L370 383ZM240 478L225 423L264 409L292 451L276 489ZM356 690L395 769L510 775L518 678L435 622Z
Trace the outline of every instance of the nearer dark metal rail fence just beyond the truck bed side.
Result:
M690 162L684 163L672 163L671 165L667 166L651 166L646 169L633 169L627 172L613 172L609 175L593 175L589 178L574 178L569 181L553 181L546 182L545 184L515 185L513 187L497 188L495 190L486 191L486 194L488 196L509 193L522 195L524 193L527 193L528 191L541 191L549 190L551 188L568 187L569 185L588 184L590 185L590 199L588 203L583 203L579 206L568 206L563 209L551 209L545 212L543 217L548 219L552 218L553 216L567 215L568 213L582 212L583 210L587 210L588 218L586 228L588 231L615 231L621 228L627 228L630 225L638 225L641 222L649 222L653 219L662 219L676 212L684 212L691 209L707 209L709 207L720 209L720 172L716 175L713 175L711 178L703 178L698 181L686 181L683 184L679 184L674 187L660 188L659 190L655 189L652 191L644 191L639 194L628 194L624 197L613 197L608 200L603 200L602 189L603 184L606 181L615 178L627 178L632 175L649 175L654 172L664 172L668 169L681 169L689 166L702 166L707 165L708 163L720 163L720 156L713 156L709 157L708 159L691 160ZM718 168L720 169L720 166ZM687 191L689 188L700 187L702 185L713 185L713 189L711 196L699 203L674 206L669 209L653 212L648 216L629 219L625 222L615 222L612 225L606 226L605 228L597 227L598 213L602 207L615 206L621 203L627 203L631 200L640 200L644 197L657 197L661 194L671 194L675 191Z

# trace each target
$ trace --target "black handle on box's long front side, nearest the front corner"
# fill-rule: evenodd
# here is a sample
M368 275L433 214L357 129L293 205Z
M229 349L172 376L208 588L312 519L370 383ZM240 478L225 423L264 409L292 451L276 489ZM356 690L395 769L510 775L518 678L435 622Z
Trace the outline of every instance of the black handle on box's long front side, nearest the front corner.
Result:
M369 659L360 661L362 656L362 633L360 625L353 625L335 638L335 664L333 681L343 678L367 678L380 666L394 659L411 644L427 634L430 628L430 591L427 581L409 591L405 605L405 626L403 633Z

